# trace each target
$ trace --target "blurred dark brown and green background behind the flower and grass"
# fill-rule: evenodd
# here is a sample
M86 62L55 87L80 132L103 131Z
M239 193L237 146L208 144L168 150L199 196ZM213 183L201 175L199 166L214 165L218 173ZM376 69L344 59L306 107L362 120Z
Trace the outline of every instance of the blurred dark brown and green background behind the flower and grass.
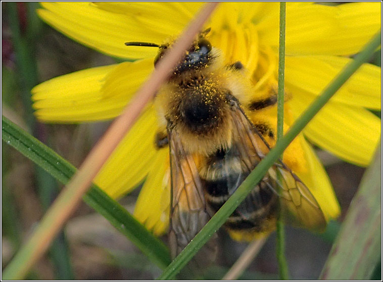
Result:
M77 70L116 63L47 26L37 17L38 3L2 2L2 113L33 134L76 167L108 127L109 122L41 124L33 116L30 89L50 78ZM371 63L380 66L380 50ZM376 113L380 116L380 112ZM2 269L28 237L61 185L31 161L2 142ZM341 222L356 192L364 168L317 151L342 207ZM133 211L139 189L120 200ZM292 279L315 279L336 236L333 222L321 236L286 227L286 257ZM220 257L207 267L206 279L218 279L247 244L233 242L219 231ZM163 237L166 242L166 236ZM106 219L81 204L50 251L28 279L153 279L161 270L143 256ZM380 279L381 268L376 268ZM275 234L252 262L243 279L278 279Z

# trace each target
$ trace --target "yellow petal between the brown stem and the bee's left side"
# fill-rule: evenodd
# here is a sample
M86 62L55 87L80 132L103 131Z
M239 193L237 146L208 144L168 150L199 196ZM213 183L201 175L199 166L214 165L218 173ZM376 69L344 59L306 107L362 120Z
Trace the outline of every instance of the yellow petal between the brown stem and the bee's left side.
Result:
M157 116L152 106L141 114L94 182L113 198L131 191L153 165L157 154L154 147L156 132Z

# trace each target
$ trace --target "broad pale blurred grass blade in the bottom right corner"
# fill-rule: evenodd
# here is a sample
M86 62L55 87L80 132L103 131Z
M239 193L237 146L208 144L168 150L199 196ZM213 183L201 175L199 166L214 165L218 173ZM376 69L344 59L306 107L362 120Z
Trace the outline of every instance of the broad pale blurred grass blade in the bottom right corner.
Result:
M380 196L380 197L379 197ZM320 279L367 280L381 250L381 149L366 170Z

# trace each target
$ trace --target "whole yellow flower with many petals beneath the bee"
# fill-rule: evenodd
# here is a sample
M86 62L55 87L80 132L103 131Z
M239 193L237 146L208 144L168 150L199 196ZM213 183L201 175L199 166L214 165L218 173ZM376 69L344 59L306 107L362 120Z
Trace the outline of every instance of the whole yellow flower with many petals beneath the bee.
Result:
M45 3L39 16L73 39L130 63L87 69L51 79L32 91L35 114L45 122L111 119L120 114L153 70L157 48L125 46L127 41L163 43L178 35L200 3ZM286 5L285 123L291 125L326 84L349 62L348 56L380 28L380 3L329 7ZM226 63L241 61L263 97L276 86L278 3L223 3L206 23L209 40ZM380 68L364 64L304 129L313 144L338 157L368 165L380 136ZM273 124L275 107L251 118ZM159 234L169 217L169 153L156 150L159 127L153 105L141 115L95 179L118 198L146 179L134 215ZM310 188L326 219L339 215L328 176L301 134L284 161Z

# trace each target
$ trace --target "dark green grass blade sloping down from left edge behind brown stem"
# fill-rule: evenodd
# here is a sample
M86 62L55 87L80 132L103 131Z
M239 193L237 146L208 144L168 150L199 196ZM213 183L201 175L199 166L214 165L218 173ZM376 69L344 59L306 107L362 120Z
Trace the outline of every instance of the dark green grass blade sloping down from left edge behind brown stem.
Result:
M4 116L2 117L2 138L7 144L64 184L76 171L74 166L52 149L46 147ZM167 247L98 186L93 184L88 193L84 195L83 200L102 214L160 268L169 264L170 256ZM22 256L19 261L10 263L3 272L3 278L17 279L20 277L18 273L21 269L23 269Z

